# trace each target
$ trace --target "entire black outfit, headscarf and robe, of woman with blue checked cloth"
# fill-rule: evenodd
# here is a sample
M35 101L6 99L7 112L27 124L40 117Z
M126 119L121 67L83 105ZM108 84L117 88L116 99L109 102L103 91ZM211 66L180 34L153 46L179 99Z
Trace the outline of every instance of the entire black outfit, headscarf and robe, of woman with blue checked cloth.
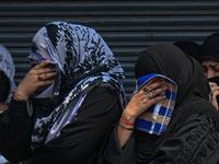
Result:
M134 131L135 138L129 139L125 150L116 151L119 155L113 153L115 149L111 142L117 142L114 133L106 145L104 161L108 159L123 164L217 163L219 115L208 99L210 87L200 65L174 45L158 44L142 51L137 59L135 73L137 79L150 73L163 74L177 84L177 96L170 124L161 137L152 139L150 147L148 140L151 138L147 136L142 141L143 134L139 136ZM199 129L200 126L204 130ZM134 157L129 159L131 156ZM129 160L124 162L126 157ZM194 162L196 159L197 162Z

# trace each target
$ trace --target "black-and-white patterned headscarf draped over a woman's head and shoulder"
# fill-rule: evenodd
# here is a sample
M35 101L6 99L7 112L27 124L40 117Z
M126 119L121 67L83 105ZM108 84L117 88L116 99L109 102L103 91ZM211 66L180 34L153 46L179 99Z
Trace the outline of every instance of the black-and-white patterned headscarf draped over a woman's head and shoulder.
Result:
M37 62L48 59L51 63L58 65L67 82L79 81L49 116L36 119L32 134L33 143L42 144L58 136L60 129L73 120L89 87L95 82L107 83L116 89L122 106L125 106L124 70L106 43L93 28L66 22L48 23L34 36L28 58ZM43 96L38 96L59 94L59 91L51 92L54 85L44 91L41 94ZM74 105L72 102L76 102ZM42 128L45 126L48 127L47 131L46 128Z

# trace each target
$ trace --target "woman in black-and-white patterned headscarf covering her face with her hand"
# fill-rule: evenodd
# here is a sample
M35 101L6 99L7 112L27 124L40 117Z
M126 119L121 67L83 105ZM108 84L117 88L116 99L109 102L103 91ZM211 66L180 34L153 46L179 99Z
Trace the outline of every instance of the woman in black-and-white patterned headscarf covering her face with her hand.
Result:
M0 116L0 151L14 163L97 163L125 103L119 62L94 30L66 22L42 27L28 58Z

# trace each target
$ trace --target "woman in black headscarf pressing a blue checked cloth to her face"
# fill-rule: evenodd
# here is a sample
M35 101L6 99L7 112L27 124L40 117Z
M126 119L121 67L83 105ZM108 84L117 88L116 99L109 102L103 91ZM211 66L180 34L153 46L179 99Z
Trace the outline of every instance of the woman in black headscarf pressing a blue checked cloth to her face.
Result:
M165 99L158 94L169 89L162 86L166 82L154 79L138 89L123 112L102 153L102 163L217 163L219 116L208 101L209 84L199 63L176 46L158 44L142 51L135 67L137 79L151 73L165 75L177 84L166 130L158 136L134 128L143 112Z

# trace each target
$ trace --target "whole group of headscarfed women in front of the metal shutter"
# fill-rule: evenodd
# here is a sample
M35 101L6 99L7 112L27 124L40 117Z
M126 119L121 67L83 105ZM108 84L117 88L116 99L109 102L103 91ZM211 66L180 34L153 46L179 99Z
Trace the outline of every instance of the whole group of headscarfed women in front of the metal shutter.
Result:
M219 163L216 43L218 33L201 45L146 48L127 101L124 70L93 28L46 24L33 37L32 69L18 87L10 54L0 56L2 163Z

